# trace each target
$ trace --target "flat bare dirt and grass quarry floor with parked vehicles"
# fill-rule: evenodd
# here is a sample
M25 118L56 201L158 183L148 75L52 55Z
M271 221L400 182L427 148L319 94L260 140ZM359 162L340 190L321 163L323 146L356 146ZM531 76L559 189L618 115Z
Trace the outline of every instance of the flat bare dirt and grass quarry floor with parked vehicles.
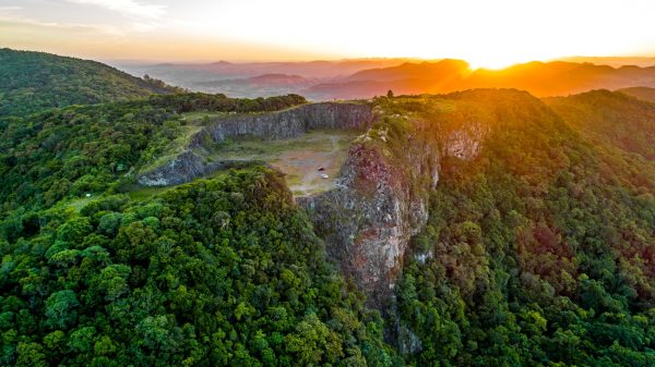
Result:
M312 131L282 140L242 139L226 144L216 158L263 160L286 175L295 196L307 196L334 187L356 132ZM319 171L319 168L323 168ZM327 178L322 178L326 174Z

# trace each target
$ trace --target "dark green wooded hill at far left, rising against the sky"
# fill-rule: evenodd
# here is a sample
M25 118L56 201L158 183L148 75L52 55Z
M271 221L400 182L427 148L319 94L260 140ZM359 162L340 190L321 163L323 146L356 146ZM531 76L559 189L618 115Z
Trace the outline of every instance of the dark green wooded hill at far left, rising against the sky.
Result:
M0 117L180 91L90 60L0 49Z

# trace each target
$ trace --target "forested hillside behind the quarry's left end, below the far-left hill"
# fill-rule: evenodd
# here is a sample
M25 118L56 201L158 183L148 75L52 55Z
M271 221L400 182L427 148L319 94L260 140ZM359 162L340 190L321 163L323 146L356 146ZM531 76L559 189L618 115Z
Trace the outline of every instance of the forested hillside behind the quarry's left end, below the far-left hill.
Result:
M177 94L0 120L3 209L7 215L47 208L64 197L100 194L132 182L135 171L198 129L183 112L261 112L303 102L296 95L233 99Z

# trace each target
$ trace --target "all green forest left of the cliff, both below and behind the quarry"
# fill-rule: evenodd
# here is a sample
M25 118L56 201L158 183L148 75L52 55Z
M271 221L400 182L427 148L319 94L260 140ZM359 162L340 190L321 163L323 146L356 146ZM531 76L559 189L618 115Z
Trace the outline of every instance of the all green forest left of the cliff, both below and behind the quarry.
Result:
M5 119L0 364L400 364L278 173L124 193L179 113L303 102L189 94Z

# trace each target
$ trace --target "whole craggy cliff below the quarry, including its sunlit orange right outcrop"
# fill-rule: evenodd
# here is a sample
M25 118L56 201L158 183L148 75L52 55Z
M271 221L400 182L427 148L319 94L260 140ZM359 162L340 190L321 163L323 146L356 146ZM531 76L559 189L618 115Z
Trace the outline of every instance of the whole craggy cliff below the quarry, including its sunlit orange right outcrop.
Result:
M367 294L368 306L392 311L395 281L409 238L428 219L441 160L474 159L488 131L477 123L436 129L384 111L377 120L352 145L336 187L298 203L325 238L329 256Z

